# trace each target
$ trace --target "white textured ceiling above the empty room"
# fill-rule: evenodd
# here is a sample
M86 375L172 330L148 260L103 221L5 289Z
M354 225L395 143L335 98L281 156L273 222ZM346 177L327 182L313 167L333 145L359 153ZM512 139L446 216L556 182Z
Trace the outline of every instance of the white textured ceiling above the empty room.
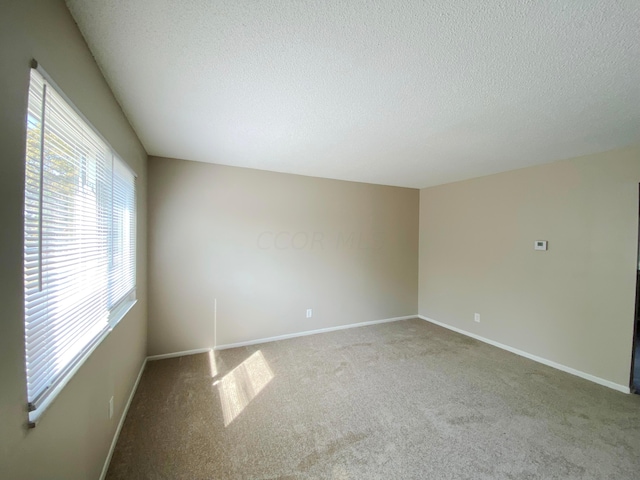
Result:
M638 0L68 0L147 152L424 187L640 142Z

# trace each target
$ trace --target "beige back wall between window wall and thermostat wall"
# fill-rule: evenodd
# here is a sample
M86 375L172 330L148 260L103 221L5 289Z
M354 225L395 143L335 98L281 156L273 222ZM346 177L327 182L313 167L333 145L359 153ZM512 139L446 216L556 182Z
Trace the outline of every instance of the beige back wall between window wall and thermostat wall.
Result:
M214 319L222 345L415 315L418 204L415 189L150 158L149 354L211 347Z

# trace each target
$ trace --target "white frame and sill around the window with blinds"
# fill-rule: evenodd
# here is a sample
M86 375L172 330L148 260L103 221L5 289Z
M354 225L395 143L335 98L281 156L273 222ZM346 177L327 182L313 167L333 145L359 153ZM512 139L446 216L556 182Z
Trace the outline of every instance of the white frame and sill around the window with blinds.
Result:
M134 211L133 211L133 219L132 219L132 235L133 235L133 288L131 288L127 293L123 295L123 297L115 303L109 310L108 321L105 328L97 334L90 342L88 342L78 353L75 358L63 369L62 373L57 376L57 378L52 382L52 386L50 390L46 393L43 398L38 401L37 406L29 403L31 399L27 398L27 411L28 411L28 427L35 428L38 421L42 417L45 411L49 408L49 406L55 401L60 392L64 389L64 387L69 383L69 381L75 376L75 374L80 370L80 368L84 365L84 363L88 360L88 358L93 354L93 352L98 348L99 345L102 344L104 339L111 333L111 331L115 328L118 323L128 314L128 312L133 308L133 306L137 303L137 253L138 253L138 188L137 188L137 173L131 168L131 166L123 159L122 156L118 154L115 148L104 138L104 136L98 131L98 129L85 117L85 115L76 107L76 105L69 99L69 97L64 93L64 91L56 84L56 82L47 74L47 72L38 64L36 60L32 60L31 62L31 70L37 71L48 87L55 90L56 94L61 97L61 99L78 115L80 120L86 124L86 126L93 131L93 133L100 138L102 142L106 145L106 147L110 150L110 153L114 157L114 162L118 160L121 165L123 165L134 177L133 183L133 198L134 198ZM31 88L31 74L29 75L29 89ZM44 105L43 105L44 108ZM25 132L28 128L28 113L25 115L24 119ZM44 140L42 140L44 142ZM26 145L25 140L25 145ZM42 145L42 143L41 143ZM25 148L24 152L24 166L26 169L27 165L27 155L28 152ZM112 181L113 181L113 173L112 173ZM25 182L26 182L26 171L25 171ZM42 188L42 186L40 186ZM23 192L26 191L26 184L24 185ZM23 194L24 201L24 194ZM25 209L25 204L23 203L23 211ZM23 255L25 255L25 221L23 220L23 230L22 230L22 240L23 240ZM24 262L24 260L23 260ZM23 301L26 301L26 291L24 290L24 267L23 267ZM25 328L25 342L26 342L26 311L23 311L22 322L23 327ZM29 374L27 372L27 351L25 344L25 353L24 353L24 366L25 366L25 381L29 381Z

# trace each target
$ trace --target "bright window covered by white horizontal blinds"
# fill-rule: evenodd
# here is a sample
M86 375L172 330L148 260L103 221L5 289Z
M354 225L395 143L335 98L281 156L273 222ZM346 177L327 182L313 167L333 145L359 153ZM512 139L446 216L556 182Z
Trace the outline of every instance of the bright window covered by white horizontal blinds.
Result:
M135 175L31 70L24 205L29 421L135 303Z

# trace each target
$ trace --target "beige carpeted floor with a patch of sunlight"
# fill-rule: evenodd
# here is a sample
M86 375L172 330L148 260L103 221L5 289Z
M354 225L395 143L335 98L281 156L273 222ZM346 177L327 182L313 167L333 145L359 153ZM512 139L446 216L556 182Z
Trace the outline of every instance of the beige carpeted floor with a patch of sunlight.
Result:
M149 362L108 479L638 479L640 396L407 320Z

